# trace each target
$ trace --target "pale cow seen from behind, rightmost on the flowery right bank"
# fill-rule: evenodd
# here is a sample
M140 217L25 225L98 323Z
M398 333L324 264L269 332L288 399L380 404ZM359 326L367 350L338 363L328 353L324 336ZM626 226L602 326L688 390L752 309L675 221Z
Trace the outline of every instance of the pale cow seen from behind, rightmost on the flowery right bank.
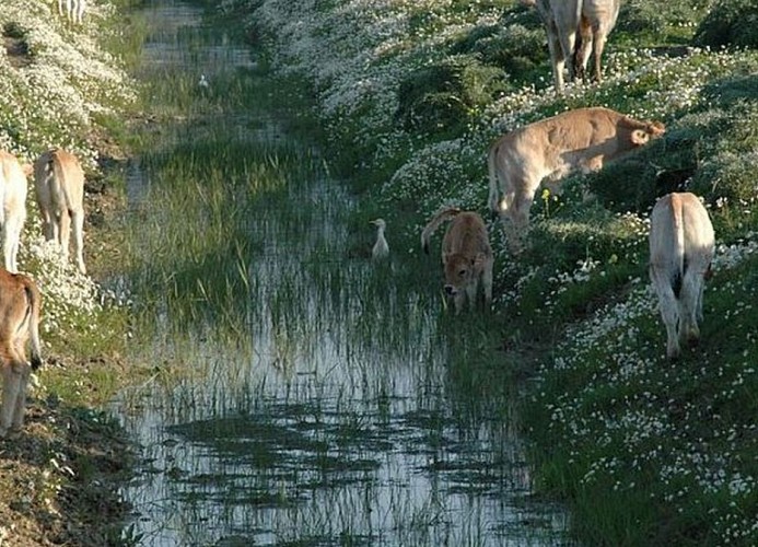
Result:
M650 226L650 279L666 325L666 357L677 359L681 342L697 342L702 294L715 240L700 199L668 194L655 203Z

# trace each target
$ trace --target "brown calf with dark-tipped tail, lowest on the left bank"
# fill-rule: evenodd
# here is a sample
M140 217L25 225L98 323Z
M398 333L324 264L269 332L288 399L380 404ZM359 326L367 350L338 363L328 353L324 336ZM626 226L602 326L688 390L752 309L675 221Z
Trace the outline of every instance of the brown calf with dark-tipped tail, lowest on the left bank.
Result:
M0 366L3 382L0 438L21 429L30 374L42 365L40 307L42 295L31 278L0 269ZM30 338L31 362L26 361Z

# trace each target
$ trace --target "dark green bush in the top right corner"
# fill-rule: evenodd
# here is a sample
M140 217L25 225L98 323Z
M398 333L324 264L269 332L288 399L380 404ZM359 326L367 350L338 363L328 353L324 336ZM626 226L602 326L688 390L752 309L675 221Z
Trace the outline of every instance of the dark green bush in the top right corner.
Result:
M720 0L700 23L693 43L710 47L758 47L758 2Z

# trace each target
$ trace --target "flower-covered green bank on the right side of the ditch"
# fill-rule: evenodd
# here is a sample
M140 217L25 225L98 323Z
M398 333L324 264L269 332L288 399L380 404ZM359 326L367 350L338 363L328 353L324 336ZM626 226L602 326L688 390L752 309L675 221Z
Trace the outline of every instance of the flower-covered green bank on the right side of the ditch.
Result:
M493 337L514 361L528 356L522 421L535 488L567 501L582 540L755 545L758 54L693 39L725 4L629 4L604 81L562 96L539 20L515 1L221 9L244 10L270 66L308 81L325 148L358 179L361 223L385 218L390 247L410 263L441 206L488 214L486 152L503 132L580 106L666 124L639 153L537 196L517 259L490 222ZM701 344L676 363L646 272L648 214L673 190L703 198L718 240Z

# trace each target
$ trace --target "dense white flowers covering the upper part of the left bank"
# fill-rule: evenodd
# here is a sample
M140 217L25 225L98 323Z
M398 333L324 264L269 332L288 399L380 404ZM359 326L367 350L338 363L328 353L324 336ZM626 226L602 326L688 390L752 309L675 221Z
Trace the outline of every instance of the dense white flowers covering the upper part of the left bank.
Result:
M97 140L104 132L101 123L137 97L136 85L119 68L121 63L102 47L104 23L115 14L114 5L92 2L88 24L79 26L58 14L57 2L3 2L0 148L22 163L32 163L48 148L62 147L78 155L88 179L103 177L104 158ZM94 264L101 249L92 237L86 240L85 260ZM43 336L48 344L70 342L82 330L84 337L102 340L114 336L102 329L103 303L123 303L125 295L102 289L61 261L55 245L42 235L31 179L20 269L31 274L43 291Z

